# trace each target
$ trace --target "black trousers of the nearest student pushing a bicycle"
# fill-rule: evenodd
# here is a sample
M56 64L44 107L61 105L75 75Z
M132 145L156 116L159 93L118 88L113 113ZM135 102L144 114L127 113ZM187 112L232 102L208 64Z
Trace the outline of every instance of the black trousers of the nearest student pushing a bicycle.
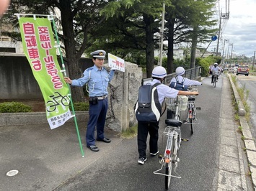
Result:
M138 154L139 157L146 158L146 139L148 134L149 138L149 152L156 153L158 152L158 129L159 121L155 123L142 123L138 122Z

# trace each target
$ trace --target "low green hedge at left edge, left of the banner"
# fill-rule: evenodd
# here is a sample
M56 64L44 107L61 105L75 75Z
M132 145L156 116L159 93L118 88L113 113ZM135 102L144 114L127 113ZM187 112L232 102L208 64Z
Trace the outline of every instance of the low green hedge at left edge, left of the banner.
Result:
M20 113L20 112L32 112L30 106L20 102L4 102L0 103L0 113Z

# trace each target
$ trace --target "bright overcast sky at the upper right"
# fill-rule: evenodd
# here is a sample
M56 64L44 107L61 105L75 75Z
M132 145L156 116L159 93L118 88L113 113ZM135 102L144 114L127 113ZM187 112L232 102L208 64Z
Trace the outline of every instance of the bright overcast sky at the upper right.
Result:
M226 1L219 0L216 9L226 13ZM221 19L222 35L219 42L219 52L224 55L229 50L231 54L231 44L233 44L233 53L236 55L246 55L252 57L256 50L256 0L230 0L229 1L229 19ZM218 26L219 27L219 26ZM211 43L208 51L213 51L217 46L217 40ZM226 54L225 54L226 52Z

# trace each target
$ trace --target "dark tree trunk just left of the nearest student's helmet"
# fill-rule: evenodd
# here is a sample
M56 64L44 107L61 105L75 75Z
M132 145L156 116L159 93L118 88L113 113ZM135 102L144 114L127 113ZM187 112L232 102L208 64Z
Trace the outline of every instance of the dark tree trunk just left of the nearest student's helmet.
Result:
M154 69L154 18L144 14L145 31L146 31L146 78L151 78Z

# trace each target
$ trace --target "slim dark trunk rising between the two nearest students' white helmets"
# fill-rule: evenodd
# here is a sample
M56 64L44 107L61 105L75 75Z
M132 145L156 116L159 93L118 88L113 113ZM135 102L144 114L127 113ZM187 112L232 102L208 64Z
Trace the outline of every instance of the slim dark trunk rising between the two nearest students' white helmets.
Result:
M168 53L167 53L167 73L174 73L173 65L173 35L174 35L174 24L175 19L169 19L168 21Z

